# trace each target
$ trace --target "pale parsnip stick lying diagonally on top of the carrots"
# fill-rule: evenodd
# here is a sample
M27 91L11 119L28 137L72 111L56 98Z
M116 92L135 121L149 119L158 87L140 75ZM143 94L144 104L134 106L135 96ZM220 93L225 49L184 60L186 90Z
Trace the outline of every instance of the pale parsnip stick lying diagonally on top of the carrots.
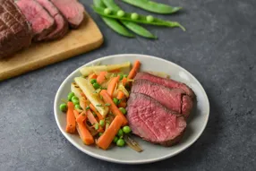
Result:
M86 98L89 99L90 103L96 107L98 113L105 117L109 111L109 108L105 106L105 103L102 99L100 99L98 93L95 93L95 89L91 85L90 81L82 77L76 77L74 81L81 88L82 92L85 94Z

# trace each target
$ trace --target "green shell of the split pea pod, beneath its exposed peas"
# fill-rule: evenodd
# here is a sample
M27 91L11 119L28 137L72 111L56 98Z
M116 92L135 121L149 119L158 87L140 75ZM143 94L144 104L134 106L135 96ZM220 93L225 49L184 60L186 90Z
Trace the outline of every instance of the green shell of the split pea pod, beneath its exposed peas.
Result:
M142 23L142 24L166 26L166 27L171 27L171 28L179 27L183 31L185 31L185 28L177 21L164 21L164 20L160 20L157 18L154 18L153 21L147 21L147 17L144 15L139 15L138 20L132 20L132 17L131 17L132 13L125 13L125 15L123 17L119 17L117 15L117 11L113 11L110 14L106 14L106 13L104 13L104 9L102 9L102 8L98 8L96 6L92 6L92 8L96 13L100 14L101 16L117 19L120 21L133 21L133 22Z

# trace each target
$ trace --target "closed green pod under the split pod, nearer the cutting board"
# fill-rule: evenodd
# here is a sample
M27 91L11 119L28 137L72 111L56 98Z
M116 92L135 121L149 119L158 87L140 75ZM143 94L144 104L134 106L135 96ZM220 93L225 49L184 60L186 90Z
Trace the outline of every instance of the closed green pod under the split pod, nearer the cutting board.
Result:
M99 9L101 9L103 11L106 8L105 4L103 4L101 0L93 0L93 4L97 8L99 8ZM114 30L118 34L123 35L125 37L129 37L129 38L133 38L134 37L134 35L129 30L127 30L122 24L120 24L115 19L107 18L105 16L101 16L101 18L107 24L107 26L109 28L111 28L112 30Z

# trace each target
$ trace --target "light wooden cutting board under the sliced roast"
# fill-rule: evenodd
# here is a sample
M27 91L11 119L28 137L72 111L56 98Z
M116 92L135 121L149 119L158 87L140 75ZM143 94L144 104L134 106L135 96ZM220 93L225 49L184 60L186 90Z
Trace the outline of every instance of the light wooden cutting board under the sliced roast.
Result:
M81 27L71 30L64 38L35 43L15 56L0 59L0 81L100 47L103 36L90 15L85 15Z

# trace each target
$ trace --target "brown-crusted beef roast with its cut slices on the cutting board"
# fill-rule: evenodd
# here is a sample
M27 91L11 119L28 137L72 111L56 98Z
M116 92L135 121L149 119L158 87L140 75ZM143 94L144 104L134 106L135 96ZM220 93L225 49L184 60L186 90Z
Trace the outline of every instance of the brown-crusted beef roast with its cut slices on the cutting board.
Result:
M0 0L0 58L30 47L31 41L63 38L83 20L77 0Z

